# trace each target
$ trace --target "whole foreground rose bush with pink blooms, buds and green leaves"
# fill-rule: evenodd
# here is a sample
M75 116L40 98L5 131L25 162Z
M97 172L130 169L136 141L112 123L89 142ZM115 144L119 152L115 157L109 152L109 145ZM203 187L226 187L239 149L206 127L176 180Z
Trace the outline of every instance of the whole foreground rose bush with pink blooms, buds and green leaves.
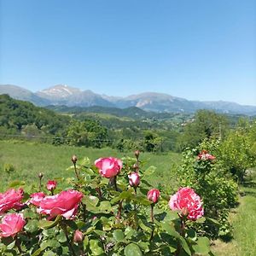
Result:
M139 155L136 152L135 158L122 160L101 158L92 166L86 158L73 157L69 189L56 195L46 195L44 176L39 175L38 188L26 186L31 192L25 193L24 199L16 196L16 201L4 208L4 212L15 213L3 213L0 254L208 255L210 241L189 228L189 222L202 215L199 210L191 213L195 210L192 202L201 209L199 196L191 189L190 193L180 189L175 201L172 197L175 210L186 201L183 205L193 218L183 209L188 218L168 211L170 195L164 189L152 189L147 179L154 175L154 167L144 170ZM10 201L9 193L16 195L17 191L3 193L8 195L5 201ZM23 207L15 207L15 202Z

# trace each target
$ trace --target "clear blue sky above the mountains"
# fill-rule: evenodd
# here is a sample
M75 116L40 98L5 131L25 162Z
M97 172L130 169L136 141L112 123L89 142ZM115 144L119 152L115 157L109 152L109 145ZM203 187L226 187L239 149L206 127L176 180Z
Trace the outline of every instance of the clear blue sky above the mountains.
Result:
M255 0L0 0L0 84L256 105Z

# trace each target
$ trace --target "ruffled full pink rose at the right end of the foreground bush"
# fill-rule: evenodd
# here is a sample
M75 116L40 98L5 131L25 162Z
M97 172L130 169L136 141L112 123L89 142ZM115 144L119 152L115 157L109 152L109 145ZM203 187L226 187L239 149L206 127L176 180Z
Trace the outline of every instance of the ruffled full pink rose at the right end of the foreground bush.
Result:
M188 219L196 220L204 215L202 201L199 195L195 194L194 189L181 188L178 189L175 195L171 196L169 207L175 210L188 210Z

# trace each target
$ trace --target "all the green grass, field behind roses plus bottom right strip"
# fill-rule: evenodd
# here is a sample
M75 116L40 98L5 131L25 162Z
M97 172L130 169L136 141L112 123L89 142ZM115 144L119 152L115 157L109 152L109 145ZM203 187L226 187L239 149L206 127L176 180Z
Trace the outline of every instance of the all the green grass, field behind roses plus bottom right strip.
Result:
M133 157L133 152L120 153L112 148L83 148L70 146L53 146L42 143L1 141L0 142L0 192L9 187L14 180L26 183L38 183L38 173L44 173L44 183L53 177L74 177L67 170L72 166L71 157L76 154L79 159L88 157L91 164L104 156ZM142 153L140 160L145 162L143 168L155 166L154 177L149 178L154 186L175 183L172 168L178 165L181 154L150 154ZM14 166L11 172L5 172L4 166ZM255 177L253 178L255 180ZM230 212L230 222L233 225L233 237L230 241L212 241L212 250L216 255L256 255L256 184L251 181L240 188L239 207Z

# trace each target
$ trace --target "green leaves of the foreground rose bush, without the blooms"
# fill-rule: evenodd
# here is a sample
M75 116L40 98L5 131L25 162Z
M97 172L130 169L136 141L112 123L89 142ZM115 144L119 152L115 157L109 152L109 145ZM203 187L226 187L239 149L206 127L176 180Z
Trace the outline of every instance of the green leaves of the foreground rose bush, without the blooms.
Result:
M3 237L0 253L3 255L212 255L210 241L198 236L189 227L189 220L180 212L166 211L169 195L161 191L159 203L147 199L151 185L147 178L154 175L154 167L140 168L140 185L135 189L128 185L127 175L138 170L138 161L123 159L123 169L113 179L101 177L96 166L84 158L74 161L69 169L76 177L68 178L70 187L83 193L75 218L58 215L48 220L38 214L36 207L28 204L21 209L26 225L14 238ZM40 175L42 177L42 175ZM13 186L20 186L14 183ZM33 193L35 187L25 186ZM25 200L29 199L26 194ZM151 211L150 211L151 209ZM154 209L154 212L153 212ZM203 222L204 218L198 219ZM197 222L197 221L195 221ZM74 239L79 230L81 239Z

